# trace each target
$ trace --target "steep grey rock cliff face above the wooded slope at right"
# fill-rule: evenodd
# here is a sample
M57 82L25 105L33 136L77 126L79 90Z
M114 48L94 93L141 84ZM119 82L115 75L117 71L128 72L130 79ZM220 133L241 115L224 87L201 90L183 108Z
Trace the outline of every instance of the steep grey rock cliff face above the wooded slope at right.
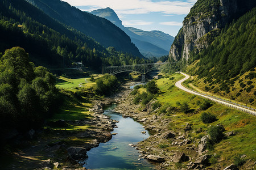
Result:
M188 58L218 36L221 28L233 19L245 14L256 5L256 1L248 0L199 0L191 8L183 21L183 27L175 37L169 56L175 61Z

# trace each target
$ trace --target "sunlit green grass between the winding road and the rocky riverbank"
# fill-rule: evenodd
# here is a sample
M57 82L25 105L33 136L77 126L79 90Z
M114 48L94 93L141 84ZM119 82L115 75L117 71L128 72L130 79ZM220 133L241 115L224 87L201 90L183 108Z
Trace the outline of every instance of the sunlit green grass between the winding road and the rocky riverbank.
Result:
M183 131L184 125L189 123L192 124L192 132L189 133L189 138L192 141L199 142L200 138L205 135L209 126L216 126L221 124L225 128L225 132L236 131L237 134L231 137L222 139L220 143L214 145L214 150L210 151L209 154L218 154L220 158L212 160L216 166L216 161L221 160L227 165L235 161L236 155L247 155L246 159L251 159L253 162L256 161L256 118L251 114L240 112L236 109L225 107L224 105L213 103L213 106L208 108L206 111L201 111L199 105L197 105L197 100L203 101L203 98L188 94L177 87L173 87L174 83L183 78L180 74L170 75L175 79L159 79L157 80L158 87L160 88L160 94L157 97L158 101L163 105L164 103L170 104L173 107L179 108L180 106L176 104L177 101L182 103L186 101L191 109L194 111L199 111L197 113L183 113L177 112L175 115L165 115L165 118L171 118L170 125L168 129ZM208 112L216 116L217 121L210 124L204 124L200 120L202 112ZM202 128L202 133L196 133L196 130Z

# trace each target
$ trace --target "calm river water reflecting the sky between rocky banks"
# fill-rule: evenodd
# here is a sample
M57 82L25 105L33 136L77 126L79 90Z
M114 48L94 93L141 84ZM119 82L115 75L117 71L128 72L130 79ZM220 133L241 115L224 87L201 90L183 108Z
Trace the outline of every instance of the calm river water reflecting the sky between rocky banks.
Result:
M121 114L115 113L115 104L105 109L104 114L113 120L119 121L118 128L112 133L112 139L100 146L92 148L87 152L88 159L84 162L84 167L88 169L153 169L153 165L148 160L139 158L138 150L129 146L149 137L148 131L142 125L134 121L133 118L123 118ZM141 131L146 131L142 134Z

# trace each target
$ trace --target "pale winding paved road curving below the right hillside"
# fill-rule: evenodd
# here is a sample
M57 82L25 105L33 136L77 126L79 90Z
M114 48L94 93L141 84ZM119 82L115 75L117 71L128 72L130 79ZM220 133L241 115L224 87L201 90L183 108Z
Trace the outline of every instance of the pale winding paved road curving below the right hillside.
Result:
M180 72L181 73L181 72ZM227 100L223 100L223 99L219 99L218 97L214 97L214 96L210 96L210 95L205 95L205 94L201 94L200 92L197 92L197 91L194 91L194 90L191 90L187 87L184 87L182 85L182 83L187 80L189 78L189 75L185 74L185 73L181 73L183 75L185 75L185 78L184 79L181 79L179 81L177 81L175 83L175 86L180 88L181 90L184 90L186 92L189 92L191 94L194 94L194 95L197 95L197 96L201 96L201 97L204 97L204 98L207 98L209 100L212 100L212 101L215 101L217 103L220 103L220 104L223 104L223 105L226 105L230 108L235 108L235 109L238 109L240 111L243 111L243 112L246 112L246 113L250 113L250 114L253 114L254 116L256 116L256 112L255 112L255 109L253 108L249 108L249 107L245 107L243 105L240 105L240 104L237 104L237 103L232 103L230 101L227 101Z

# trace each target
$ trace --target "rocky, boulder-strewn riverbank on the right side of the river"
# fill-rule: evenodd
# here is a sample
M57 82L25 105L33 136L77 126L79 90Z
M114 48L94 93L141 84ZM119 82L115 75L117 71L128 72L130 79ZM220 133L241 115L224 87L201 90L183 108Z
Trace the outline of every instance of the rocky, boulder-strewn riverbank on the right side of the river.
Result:
M130 95L130 92L127 86L126 91L119 96L119 104L115 111L123 117L134 118L150 131L149 138L135 145L142 158L154 162L157 169L203 169L209 164L208 150L206 150L207 136L203 137L199 143L192 142L189 139L189 133L195 130L185 122L183 130L170 130L171 118L165 118L164 114L158 115L152 111L152 102L146 107L133 104L134 96ZM175 115L177 109L172 112ZM166 146L171 146L171 150L170 147L167 150ZM188 164L180 164L182 162L188 162Z

